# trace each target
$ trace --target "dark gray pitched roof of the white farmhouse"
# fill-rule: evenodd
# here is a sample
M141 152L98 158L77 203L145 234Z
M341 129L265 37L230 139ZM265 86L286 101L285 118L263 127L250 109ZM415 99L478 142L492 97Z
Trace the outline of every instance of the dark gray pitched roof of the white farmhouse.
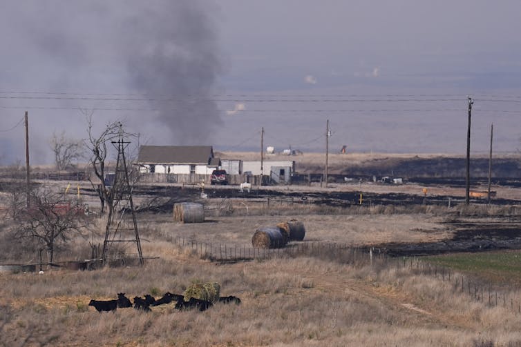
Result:
M207 165L213 157L211 146L140 146L138 163Z

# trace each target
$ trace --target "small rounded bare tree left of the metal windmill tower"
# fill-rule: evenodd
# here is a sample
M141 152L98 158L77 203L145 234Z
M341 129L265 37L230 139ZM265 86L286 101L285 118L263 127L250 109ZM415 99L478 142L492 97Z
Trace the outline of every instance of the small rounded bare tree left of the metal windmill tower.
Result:
M52 263L56 250L73 237L84 235L89 219L82 206L67 201L60 193L35 189L30 198L31 207L17 214L15 237L46 250Z

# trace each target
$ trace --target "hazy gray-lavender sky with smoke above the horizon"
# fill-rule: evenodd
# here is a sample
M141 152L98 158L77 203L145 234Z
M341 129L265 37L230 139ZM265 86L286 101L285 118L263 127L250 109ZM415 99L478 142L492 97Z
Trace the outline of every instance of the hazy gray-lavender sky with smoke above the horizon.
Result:
M0 4L0 160L123 119L149 144L464 154L521 147L519 1Z

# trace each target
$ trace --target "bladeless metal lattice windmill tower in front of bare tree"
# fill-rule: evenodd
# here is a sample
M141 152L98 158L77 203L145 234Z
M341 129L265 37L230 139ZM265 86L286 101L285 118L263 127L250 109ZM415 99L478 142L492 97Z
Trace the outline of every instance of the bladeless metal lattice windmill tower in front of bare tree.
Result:
M112 208L108 210L108 221L106 224L105 241L103 243L103 264L106 261L115 258L115 252L111 247L115 243L135 243L138 248L138 257L140 264L143 265L143 253L141 250L140 235L138 232L138 224L135 221L134 203L132 201L132 187L129 181L129 170L126 167L125 149L129 146L129 141L124 141L123 127L120 123L120 130L117 135L117 141L112 144L117 148L117 161L114 181L109 192L109 199L112 199ZM120 212L117 211L118 206ZM132 214L131 228L124 228L122 224L126 210L130 208ZM126 233L124 233L126 231ZM133 237L130 235L133 233Z

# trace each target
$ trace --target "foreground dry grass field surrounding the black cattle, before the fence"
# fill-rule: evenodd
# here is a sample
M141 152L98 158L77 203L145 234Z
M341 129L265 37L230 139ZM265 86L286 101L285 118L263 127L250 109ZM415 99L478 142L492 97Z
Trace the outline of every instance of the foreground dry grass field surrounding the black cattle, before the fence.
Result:
M410 270L297 257L214 264L156 240L143 268L0 276L5 346L515 346L519 315ZM91 298L214 280L240 306L97 313ZM517 293L519 294L519 293Z

